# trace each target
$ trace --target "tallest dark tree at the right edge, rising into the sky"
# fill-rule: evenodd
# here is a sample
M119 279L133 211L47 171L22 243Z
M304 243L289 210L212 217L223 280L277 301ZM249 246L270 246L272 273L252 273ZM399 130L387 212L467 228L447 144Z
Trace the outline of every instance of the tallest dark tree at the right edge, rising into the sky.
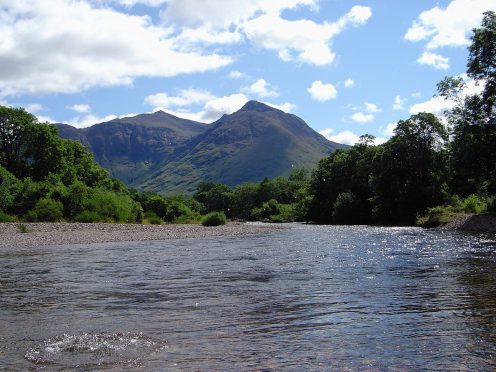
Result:
M481 94L466 95L461 78L448 77L438 92L452 100L446 112L450 129L450 186L454 193L496 194L496 14L484 13L469 46L467 74L482 85Z

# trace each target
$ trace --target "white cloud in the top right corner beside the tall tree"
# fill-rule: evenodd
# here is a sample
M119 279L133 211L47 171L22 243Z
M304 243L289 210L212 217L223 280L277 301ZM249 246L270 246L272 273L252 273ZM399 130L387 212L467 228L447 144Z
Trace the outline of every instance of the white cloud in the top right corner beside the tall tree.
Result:
M468 36L482 20L482 13L496 10L492 0L452 0L443 9L438 6L422 12L405 34L405 39L427 41L427 49L465 46Z

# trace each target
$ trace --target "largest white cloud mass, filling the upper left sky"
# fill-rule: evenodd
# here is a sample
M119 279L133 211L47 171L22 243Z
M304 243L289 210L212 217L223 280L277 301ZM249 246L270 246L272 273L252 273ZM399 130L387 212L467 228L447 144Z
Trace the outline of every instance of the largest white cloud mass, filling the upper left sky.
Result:
M2 3L0 91L73 93L226 66L229 56L177 50L151 18L70 0Z

